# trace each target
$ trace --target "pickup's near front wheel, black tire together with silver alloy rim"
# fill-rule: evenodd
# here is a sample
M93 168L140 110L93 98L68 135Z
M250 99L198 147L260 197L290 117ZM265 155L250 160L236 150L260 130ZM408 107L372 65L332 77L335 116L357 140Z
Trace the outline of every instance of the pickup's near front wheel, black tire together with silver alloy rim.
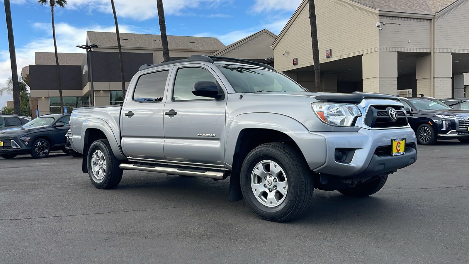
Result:
M281 170L270 178L272 170L270 165L268 165L268 179L272 179L271 182L268 181L267 176L264 179L256 176L254 173L254 170L259 168L259 166L262 166L264 171L266 171L269 161L277 163ZM265 165L262 162L266 162ZM279 168L276 170L279 170ZM254 192L257 189L254 186L251 187L251 182L259 179L261 181L260 184L265 182L263 186L267 187L266 184L273 184L270 187L272 189L275 187L275 189L272 192L270 190L257 191L259 192L257 194L259 198L256 198ZM281 187L280 184L287 186L287 188ZM277 185L280 187L277 188ZM285 190L284 195L281 194L280 189ZM314 186L311 170L301 152L285 143L266 143L254 148L244 159L241 167L241 190L244 200L258 217L273 222L284 222L299 216L308 208ZM275 202L278 205L270 206L272 200L270 204L267 202L267 199L271 199L268 198L269 195L275 197ZM265 199L265 201L260 202L258 199L261 201ZM279 201L276 201L277 199ZM266 204L269 204L269 206Z

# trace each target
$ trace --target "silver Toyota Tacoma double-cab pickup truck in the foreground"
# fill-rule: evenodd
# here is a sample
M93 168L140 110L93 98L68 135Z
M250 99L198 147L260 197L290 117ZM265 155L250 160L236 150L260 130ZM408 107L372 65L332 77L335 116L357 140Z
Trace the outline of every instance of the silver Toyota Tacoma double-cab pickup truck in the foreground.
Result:
M368 196L417 158L395 96L311 93L268 65L204 55L140 67L122 106L73 109L71 132L97 188L124 170L229 176L230 201L276 222L314 188Z

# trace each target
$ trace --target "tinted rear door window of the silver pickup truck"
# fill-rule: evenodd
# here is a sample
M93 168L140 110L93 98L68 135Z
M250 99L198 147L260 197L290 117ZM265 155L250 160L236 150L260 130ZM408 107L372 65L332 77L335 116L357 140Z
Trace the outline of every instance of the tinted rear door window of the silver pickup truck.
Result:
M169 70L163 70L140 76L135 87L134 100L140 102L163 101L168 73Z

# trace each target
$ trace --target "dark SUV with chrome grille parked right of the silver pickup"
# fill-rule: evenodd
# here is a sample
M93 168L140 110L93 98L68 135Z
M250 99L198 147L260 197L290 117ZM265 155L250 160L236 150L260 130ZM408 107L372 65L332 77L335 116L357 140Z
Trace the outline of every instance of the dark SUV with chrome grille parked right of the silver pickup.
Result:
M452 139L469 142L469 111L452 109L442 101L423 94L408 98L403 95L397 96L404 104L408 123L414 129L418 143L433 145L437 140Z

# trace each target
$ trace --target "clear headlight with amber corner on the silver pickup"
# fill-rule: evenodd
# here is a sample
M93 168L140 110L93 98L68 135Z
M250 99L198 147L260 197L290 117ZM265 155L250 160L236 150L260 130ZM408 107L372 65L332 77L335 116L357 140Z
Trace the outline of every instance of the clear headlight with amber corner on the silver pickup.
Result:
M321 121L331 125L351 126L355 117L362 116L355 104L321 102L312 103L311 107Z

